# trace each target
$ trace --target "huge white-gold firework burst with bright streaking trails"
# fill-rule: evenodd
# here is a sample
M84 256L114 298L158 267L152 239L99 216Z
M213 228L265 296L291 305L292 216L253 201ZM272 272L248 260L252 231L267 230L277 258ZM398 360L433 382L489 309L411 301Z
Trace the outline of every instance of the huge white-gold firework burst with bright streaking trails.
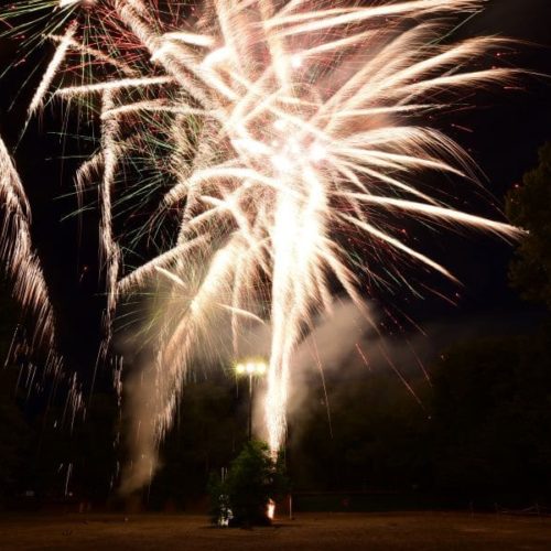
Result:
M337 287L361 306L361 281L401 272L400 258L454 279L408 244L397 217L521 234L413 183L425 171L473 180L463 150L420 121L441 112L452 91L511 78L506 69L465 68L506 41L450 44L457 13L483 3L206 0L191 11L176 2L62 0L52 11L57 52L30 111L51 96L101 110L100 148L77 182L82 188L102 173L106 320L120 300L155 282L174 299L160 316L148 379L158 440L197 343L216 322L228 318L235 348L242 332L268 323L264 421L276 453L293 352ZM140 169L129 186L130 164ZM154 241L174 214L179 228L156 257L129 268L119 251L139 239L115 231L112 196L140 204L150 190L165 193L139 237ZM364 244L359 262L350 236Z

